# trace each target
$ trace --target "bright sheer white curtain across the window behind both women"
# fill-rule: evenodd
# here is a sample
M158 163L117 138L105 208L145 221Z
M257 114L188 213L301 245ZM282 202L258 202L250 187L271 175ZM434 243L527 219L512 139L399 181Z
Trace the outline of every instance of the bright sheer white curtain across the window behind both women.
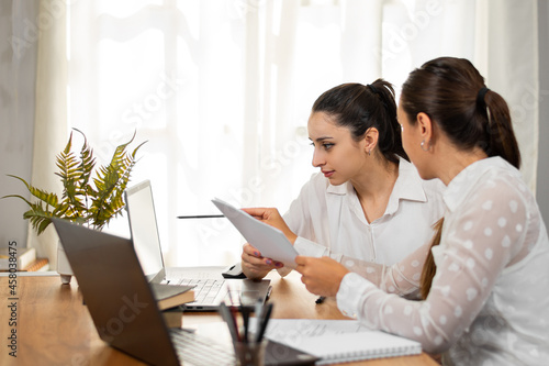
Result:
M315 171L316 97L379 77L399 90L438 56L470 59L507 99L534 189L536 11L536 0L75 0L58 107L100 162L134 132L147 141L133 182L153 182L168 265L225 265L243 244L227 221L176 217L216 213L213 197L283 212ZM109 230L127 234L126 220Z

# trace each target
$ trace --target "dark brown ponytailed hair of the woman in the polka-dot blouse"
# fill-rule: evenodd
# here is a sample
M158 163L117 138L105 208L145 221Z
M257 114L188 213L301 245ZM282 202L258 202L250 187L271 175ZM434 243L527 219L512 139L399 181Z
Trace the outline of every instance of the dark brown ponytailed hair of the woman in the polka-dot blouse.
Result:
M412 71L402 86L401 106L412 124L426 113L451 143L463 151L481 147L488 156L501 156L517 169L520 153L505 100L485 89L484 78L464 58L440 57ZM441 219L435 224L432 245L440 243ZM421 292L426 298L436 267L429 252Z

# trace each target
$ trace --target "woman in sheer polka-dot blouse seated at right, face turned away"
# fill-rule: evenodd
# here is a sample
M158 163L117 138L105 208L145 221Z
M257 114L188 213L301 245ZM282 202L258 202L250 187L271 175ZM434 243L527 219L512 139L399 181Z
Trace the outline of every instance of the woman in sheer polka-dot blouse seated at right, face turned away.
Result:
M423 267L423 300L388 295L326 257L298 256L302 281L369 326L444 353L444 364L547 364L549 240L504 99L467 59L437 58L410 74L399 122L422 178L447 186L426 263L395 265L407 277Z

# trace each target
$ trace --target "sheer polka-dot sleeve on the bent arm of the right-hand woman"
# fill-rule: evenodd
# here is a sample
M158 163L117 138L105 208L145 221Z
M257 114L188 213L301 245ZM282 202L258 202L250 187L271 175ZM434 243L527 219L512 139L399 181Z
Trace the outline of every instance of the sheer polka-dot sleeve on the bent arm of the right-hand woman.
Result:
M416 340L427 352L449 348L477 318L502 269L525 253L528 225L526 202L504 181L485 185L449 215L442 243L432 249L437 271L427 299L386 293L351 273L339 286L339 309L370 328ZM402 271L415 269L406 265Z

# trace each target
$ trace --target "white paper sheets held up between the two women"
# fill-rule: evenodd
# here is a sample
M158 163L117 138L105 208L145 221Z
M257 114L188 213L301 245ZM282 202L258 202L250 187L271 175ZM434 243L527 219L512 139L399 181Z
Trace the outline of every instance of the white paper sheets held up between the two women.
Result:
M217 198L214 198L212 202L235 225L244 239L261 252L264 257L282 262L285 267L292 269L296 267L298 252L280 230L254 219L243 210Z

